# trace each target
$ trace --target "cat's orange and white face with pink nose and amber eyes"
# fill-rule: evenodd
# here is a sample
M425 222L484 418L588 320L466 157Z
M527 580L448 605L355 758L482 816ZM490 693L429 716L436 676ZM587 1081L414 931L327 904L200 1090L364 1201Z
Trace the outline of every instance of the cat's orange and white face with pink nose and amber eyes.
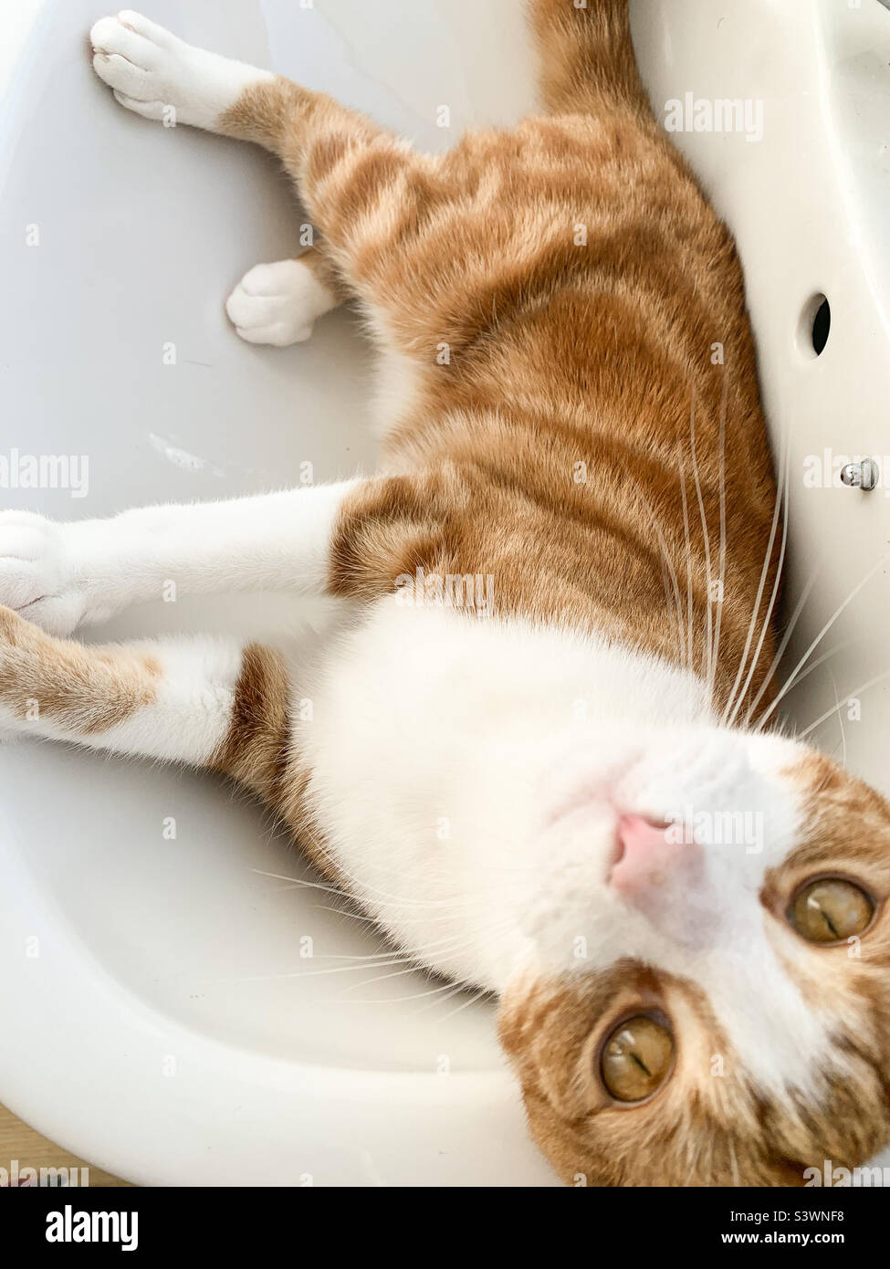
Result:
M890 807L776 737L658 749L542 834L500 1011L532 1132L574 1184L858 1165L890 1138Z

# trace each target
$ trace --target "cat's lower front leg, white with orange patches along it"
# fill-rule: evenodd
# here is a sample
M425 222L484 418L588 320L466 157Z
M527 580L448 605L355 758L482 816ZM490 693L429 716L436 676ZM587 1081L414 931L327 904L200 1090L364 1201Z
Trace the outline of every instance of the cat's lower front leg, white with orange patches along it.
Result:
M3 739L208 766L270 797L298 778L297 690L276 648L206 634L83 645L0 607Z

